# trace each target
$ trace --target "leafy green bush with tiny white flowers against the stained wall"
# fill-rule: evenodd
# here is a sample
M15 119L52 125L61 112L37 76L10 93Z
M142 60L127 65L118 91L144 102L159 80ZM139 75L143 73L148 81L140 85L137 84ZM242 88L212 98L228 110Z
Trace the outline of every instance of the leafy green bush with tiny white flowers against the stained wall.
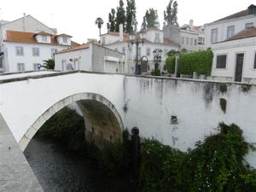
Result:
M146 140L141 149L139 191L256 191L256 171L244 165L246 143L237 125L220 123L220 133L183 153Z

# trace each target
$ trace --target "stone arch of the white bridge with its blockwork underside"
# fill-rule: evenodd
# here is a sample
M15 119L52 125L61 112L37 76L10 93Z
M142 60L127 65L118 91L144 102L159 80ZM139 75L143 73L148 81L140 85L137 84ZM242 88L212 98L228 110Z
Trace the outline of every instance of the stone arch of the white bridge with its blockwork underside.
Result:
M38 117L20 139L19 146L21 150L24 151L26 149L32 137L50 117L73 102L78 104L83 114L84 134L87 142L93 142L99 148L104 148L108 143L122 141L124 124L113 103L99 94L83 92L67 96L56 102Z

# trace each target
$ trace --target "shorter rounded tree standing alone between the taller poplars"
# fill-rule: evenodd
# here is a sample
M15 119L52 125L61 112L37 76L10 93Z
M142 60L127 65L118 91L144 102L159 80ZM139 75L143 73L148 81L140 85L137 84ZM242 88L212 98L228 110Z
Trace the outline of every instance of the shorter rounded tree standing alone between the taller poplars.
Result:
M143 17L143 24L141 26L143 30L151 27L157 29L160 28L157 10L153 8L149 9L149 11L146 11L145 16Z

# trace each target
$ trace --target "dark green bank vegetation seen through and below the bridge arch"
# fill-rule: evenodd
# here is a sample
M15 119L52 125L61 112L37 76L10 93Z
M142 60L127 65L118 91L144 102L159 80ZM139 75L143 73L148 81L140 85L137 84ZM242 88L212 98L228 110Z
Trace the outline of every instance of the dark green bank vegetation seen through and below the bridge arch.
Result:
M102 172L108 175L122 175L131 166L128 131L123 132L123 143L111 143L100 151L92 143L85 142L84 118L70 108L62 108L38 130L40 136L52 137L67 143L76 153L97 160Z

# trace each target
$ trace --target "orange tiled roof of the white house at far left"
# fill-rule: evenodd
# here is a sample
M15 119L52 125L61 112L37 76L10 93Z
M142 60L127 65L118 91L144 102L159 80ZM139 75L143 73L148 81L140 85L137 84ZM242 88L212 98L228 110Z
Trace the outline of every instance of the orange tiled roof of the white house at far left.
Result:
M35 37L38 34L49 35L50 39L51 39L50 44L61 45L58 43L57 39L55 38L56 35L51 35L50 33L47 33L47 32L35 33L35 32L15 32L15 31L6 30L7 38L4 41L19 42L19 43L25 43L25 44L48 44L48 43L38 43L37 38ZM69 36L69 37L71 37L71 36ZM72 46L77 46L77 45L79 45L79 44L72 41Z

